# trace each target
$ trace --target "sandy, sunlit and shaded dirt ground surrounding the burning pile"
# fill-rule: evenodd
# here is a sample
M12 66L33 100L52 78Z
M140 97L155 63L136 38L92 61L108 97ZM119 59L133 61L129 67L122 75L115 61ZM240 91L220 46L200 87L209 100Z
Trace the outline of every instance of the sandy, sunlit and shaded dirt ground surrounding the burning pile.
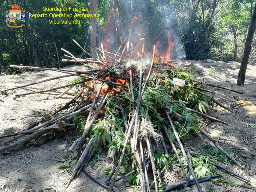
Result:
M256 186L256 66L248 66L246 72L245 85L238 87L236 85L237 74L240 64L236 62L224 63L202 63L197 61L184 61L180 64L182 67L196 67L197 71L203 75L204 80L214 85L225 86L234 90L243 92L238 94L219 88L209 87L214 90L214 98L233 110L233 114L218 106L213 106L209 115L221 119L228 123L223 125L213 121L207 122L204 127L211 136L219 141L227 149L234 153L234 157L244 166L241 168L227 163L227 169L241 174L251 180L252 186ZM209 76L209 67L212 66L218 72L215 77ZM81 66L70 66L69 69L83 70ZM197 73L197 74L199 74ZM0 76L0 90L20 85L37 82L47 78L62 75L54 71L40 71L22 73L19 75ZM70 101L72 95L64 95L60 99L54 97L59 93L47 92L44 94L31 94L25 97L14 98L14 94L35 91L34 88L49 89L56 86L65 85L69 78L55 80L54 82L45 82L39 85L30 86L28 89L18 89L9 91L8 95L0 95L0 135L8 133L18 133L25 130L34 121L41 119L50 112L54 111L64 103ZM213 131L215 130L215 131ZM216 133L217 131L223 134ZM74 140L74 139L73 139ZM0 145L4 139L0 139ZM198 146L205 144L213 145L208 139L186 138L187 146L192 151L197 151ZM197 143L197 145L195 144ZM71 146L69 139L61 137L39 147L31 147L30 143L6 150L0 153L0 191L8 192L46 192L46 191L67 191L67 192L98 192L106 191L84 173L75 178L68 189L66 184L71 176L67 169L58 169L63 165L56 161L70 154L67 150ZM89 173L105 183L107 175L102 171L109 164L105 159L97 163L93 169L87 168ZM226 164L222 164L225 166ZM231 176L221 170L221 173L229 182L235 181L239 185L244 182L235 176ZM169 179L169 180L168 180ZM166 179L167 187L185 181L178 173L171 173ZM133 187L127 185L124 179L118 184L118 191L133 191ZM231 187L229 184L218 184L214 186L211 182L201 184L204 191L213 190L217 192L252 192L253 189L247 189L239 186ZM48 190L46 190L48 188ZM51 188L51 189L49 189ZM135 190L138 191L138 190ZM197 191L195 187L188 188L187 191Z

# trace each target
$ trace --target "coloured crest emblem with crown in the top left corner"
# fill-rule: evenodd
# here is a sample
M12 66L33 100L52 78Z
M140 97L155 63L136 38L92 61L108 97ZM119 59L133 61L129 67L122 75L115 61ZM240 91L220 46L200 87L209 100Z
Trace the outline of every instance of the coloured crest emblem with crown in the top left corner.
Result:
M25 11L19 10L20 5L12 5L12 10L5 11L5 22L8 27L22 27L25 23Z

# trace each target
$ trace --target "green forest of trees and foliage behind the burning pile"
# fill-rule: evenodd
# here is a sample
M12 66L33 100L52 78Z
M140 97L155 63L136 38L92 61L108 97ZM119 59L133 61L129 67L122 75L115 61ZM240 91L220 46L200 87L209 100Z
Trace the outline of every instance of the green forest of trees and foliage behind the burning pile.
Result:
M4 13L11 9L12 4L19 4L26 11L25 26L21 28L6 26ZM85 45L87 51L107 39L114 52L129 35L130 4L127 0L4 0L0 4L0 72L14 74L15 69L9 67L11 64L34 66L37 63L39 67L58 67L56 48L60 67L64 67L69 63L61 62L61 48L74 55L81 54L72 39ZM170 31L175 49L179 49L179 54L173 59L210 58L241 62L254 4L253 0L134 0L134 11L137 12L135 15L139 13L137 17L142 25L141 33L146 37L146 47L152 47L156 37L161 38L163 32ZM101 17L96 18L96 22L88 17L71 18L80 20L80 24L50 24L49 17L28 17L29 13L45 13L43 6L87 7L86 12L65 13L74 15L96 11ZM255 48L254 34L249 58L251 65L256 63Z

